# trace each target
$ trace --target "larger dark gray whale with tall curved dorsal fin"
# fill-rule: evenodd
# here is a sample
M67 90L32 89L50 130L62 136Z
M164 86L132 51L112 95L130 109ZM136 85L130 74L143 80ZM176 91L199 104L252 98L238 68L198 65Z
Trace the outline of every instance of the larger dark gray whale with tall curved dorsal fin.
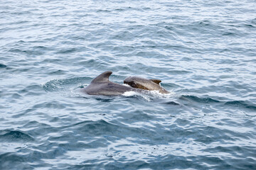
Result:
M82 89L86 94L90 95L105 95L105 96L117 96L124 94L126 91L143 92L142 89L134 89L129 86L116 84L109 80L111 71L104 72L92 80L89 86Z

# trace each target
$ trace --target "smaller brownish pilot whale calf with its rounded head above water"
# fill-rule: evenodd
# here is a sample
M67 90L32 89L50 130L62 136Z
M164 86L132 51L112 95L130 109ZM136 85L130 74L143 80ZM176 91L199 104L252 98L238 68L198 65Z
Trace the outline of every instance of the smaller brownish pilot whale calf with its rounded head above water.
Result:
M142 77L127 77L124 79L124 84L129 84L133 88L144 89L149 91L159 91L161 94L169 94L169 91L160 86L159 79L144 79Z

